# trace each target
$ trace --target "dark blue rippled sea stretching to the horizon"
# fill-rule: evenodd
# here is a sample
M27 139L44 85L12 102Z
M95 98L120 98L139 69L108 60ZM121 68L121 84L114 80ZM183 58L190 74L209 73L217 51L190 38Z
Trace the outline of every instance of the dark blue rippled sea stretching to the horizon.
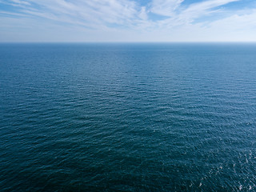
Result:
M256 191L256 45L0 45L0 190Z

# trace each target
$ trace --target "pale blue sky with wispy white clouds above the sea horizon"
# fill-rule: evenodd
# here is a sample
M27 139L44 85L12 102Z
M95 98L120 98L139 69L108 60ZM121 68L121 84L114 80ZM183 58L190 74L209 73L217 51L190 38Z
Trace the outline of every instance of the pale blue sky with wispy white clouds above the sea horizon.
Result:
M256 42L256 1L0 0L0 42Z

